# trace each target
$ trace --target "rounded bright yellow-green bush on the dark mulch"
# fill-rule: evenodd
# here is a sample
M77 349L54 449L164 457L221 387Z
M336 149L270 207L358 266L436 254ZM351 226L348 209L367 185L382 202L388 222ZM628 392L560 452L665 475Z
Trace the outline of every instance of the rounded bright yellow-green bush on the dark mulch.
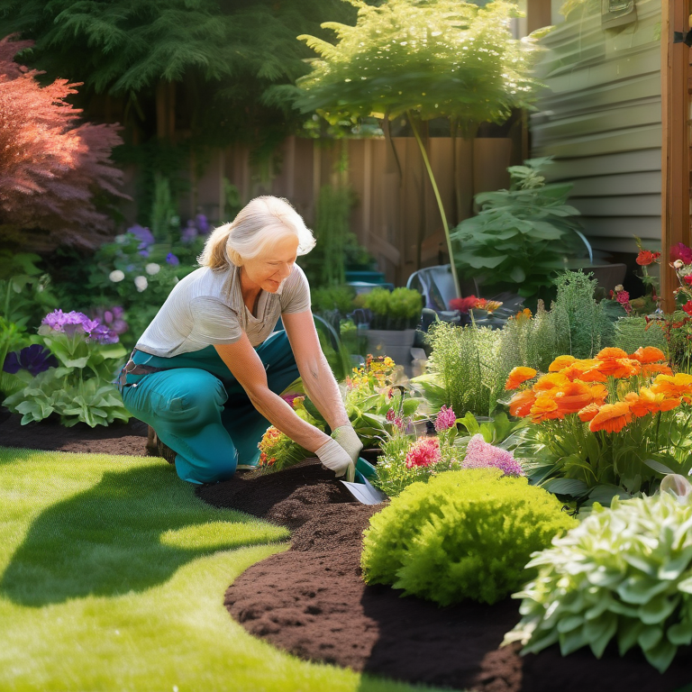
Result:
M525 478L501 477L499 469L449 471L407 487L370 519L365 580L440 605L504 598L526 580L531 553L576 521Z

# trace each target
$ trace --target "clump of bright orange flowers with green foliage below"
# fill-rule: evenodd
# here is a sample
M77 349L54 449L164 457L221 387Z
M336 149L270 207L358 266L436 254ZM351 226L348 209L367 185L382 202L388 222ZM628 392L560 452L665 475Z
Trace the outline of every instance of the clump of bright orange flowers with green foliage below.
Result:
M659 349L606 348L594 359L559 356L536 378L515 368L505 387L522 387L510 413L534 425L519 451L533 482L579 501L653 494L665 473L687 474L692 375L673 374ZM531 384L529 384L531 383Z

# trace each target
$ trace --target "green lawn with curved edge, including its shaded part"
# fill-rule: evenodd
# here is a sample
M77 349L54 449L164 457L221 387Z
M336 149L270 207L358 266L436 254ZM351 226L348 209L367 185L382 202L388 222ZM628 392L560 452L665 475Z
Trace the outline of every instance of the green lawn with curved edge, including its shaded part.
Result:
M0 507L3 692L414 689L246 633L223 592L287 531L205 505L160 460L0 448Z

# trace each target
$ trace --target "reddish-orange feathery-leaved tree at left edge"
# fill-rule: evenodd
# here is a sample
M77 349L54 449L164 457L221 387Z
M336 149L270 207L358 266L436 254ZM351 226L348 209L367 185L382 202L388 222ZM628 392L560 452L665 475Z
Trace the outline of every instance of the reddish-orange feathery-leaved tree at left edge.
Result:
M32 41L0 41L0 228L5 239L50 232L51 241L95 247L112 222L94 204L105 191L124 197L123 173L110 153L121 143L114 125L78 123L81 110L65 100L77 84L23 68L14 55Z

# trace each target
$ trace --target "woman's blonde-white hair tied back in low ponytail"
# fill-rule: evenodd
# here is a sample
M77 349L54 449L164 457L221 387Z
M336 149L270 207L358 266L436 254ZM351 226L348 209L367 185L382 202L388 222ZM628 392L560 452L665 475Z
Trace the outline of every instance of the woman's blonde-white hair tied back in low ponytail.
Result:
M255 197L231 223L214 229L197 261L210 269L241 267L244 260L257 257L287 235L298 239L298 255L314 248L312 231L287 199L269 195Z

